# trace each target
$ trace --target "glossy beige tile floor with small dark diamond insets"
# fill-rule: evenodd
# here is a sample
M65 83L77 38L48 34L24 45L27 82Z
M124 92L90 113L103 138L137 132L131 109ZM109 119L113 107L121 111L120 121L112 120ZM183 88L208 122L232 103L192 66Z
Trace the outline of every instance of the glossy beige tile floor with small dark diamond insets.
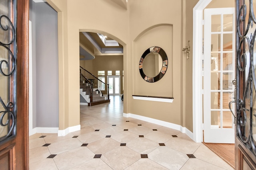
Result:
M232 170L180 131L122 116L120 96L80 106L81 130L29 139L30 170Z

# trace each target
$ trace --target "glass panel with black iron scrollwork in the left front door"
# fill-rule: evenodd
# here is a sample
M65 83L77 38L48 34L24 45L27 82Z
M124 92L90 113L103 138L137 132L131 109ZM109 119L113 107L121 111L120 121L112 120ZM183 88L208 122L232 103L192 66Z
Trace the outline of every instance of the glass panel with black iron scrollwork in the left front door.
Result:
M16 10L16 0L6 0L3 4L1 8ZM12 5L14 8L10 8ZM0 76L3 76L0 86L0 142L16 135L16 12L6 10L6 14L8 12L11 19L2 12L0 16Z

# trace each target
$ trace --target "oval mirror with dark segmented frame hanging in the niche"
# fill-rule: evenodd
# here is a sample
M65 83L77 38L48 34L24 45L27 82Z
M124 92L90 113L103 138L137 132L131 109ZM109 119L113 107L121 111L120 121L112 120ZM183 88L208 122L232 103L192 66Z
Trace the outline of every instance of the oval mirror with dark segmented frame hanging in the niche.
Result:
M164 76L167 66L168 58L165 51L160 47L150 47L140 58L140 75L147 82L157 82Z

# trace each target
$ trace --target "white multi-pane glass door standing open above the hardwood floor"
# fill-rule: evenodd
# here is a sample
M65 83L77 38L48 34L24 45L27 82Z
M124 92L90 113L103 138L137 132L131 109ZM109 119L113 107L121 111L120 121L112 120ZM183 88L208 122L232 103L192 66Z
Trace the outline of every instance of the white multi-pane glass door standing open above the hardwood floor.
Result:
M234 143L234 8L204 10L204 142ZM234 111L234 106L232 106Z

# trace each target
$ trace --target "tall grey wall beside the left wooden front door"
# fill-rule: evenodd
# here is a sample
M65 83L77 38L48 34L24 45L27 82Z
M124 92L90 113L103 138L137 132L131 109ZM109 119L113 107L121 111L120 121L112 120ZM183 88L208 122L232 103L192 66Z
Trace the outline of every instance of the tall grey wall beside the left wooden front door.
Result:
M30 20L34 70L33 128L56 128L59 126L57 12L44 2L30 0Z

